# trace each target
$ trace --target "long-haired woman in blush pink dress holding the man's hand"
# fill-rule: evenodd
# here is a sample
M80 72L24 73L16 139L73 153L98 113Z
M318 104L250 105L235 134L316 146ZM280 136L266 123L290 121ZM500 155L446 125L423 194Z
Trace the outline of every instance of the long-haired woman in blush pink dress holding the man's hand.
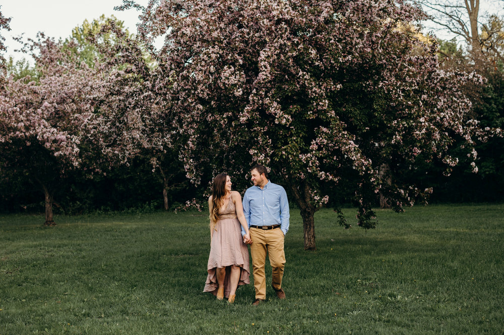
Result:
M249 284L248 248L251 243L248 225L243 215L241 196L231 191L227 174L214 178L213 193L208 199L210 211L210 256L208 276L203 292L211 292L233 303L238 285ZM245 230L243 239L241 227Z

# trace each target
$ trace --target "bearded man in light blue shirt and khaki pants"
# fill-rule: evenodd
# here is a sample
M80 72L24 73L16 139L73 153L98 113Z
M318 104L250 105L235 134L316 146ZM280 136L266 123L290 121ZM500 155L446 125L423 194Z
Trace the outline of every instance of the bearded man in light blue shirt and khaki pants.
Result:
M289 230L289 202L287 194L280 185L268 180L268 171L263 165L250 170L254 186L248 188L243 196L243 213L248 223L250 255L254 273L254 287L257 306L266 299L266 275L264 266L266 255L272 268L271 286L279 299L285 299L282 289L285 253L284 237ZM245 231L242 228L242 234Z

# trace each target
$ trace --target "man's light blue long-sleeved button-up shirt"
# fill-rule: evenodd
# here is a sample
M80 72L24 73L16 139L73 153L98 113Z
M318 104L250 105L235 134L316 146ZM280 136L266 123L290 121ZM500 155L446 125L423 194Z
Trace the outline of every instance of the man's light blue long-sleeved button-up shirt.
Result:
M272 226L280 224L280 229L285 235L289 230L290 217L285 189L270 181L263 189L259 186L248 188L243 196L243 214L245 214L248 228L250 225ZM241 228L241 234L245 234L243 228Z

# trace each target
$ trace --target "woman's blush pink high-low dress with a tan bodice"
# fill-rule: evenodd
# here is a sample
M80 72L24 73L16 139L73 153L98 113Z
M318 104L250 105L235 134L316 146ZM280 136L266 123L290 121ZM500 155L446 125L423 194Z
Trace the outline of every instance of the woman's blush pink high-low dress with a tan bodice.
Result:
M217 295L219 284L217 283L216 268L236 265L240 267L240 280L238 286L250 283L250 268L248 264L248 248L241 237L241 225L236 216L236 207L232 199L226 209L219 214L210 245L210 256L207 265L207 281L203 292L211 292ZM231 268L226 268L224 280L224 296L229 296L229 275Z

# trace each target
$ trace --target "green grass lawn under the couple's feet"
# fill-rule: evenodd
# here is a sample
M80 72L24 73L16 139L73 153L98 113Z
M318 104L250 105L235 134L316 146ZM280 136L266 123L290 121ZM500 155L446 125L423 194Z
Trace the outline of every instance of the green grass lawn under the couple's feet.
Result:
M268 286L258 307L253 284L232 305L202 292L207 213L0 215L0 334L504 332L504 205L377 214L366 232L318 212L305 252L292 210L287 299Z

